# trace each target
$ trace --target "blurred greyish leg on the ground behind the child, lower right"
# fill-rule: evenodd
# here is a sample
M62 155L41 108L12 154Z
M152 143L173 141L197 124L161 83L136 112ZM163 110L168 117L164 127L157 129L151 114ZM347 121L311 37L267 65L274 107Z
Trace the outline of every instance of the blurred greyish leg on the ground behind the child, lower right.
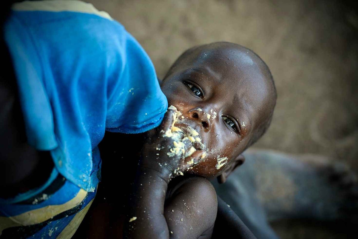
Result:
M257 238L277 238L268 221L310 218L357 222L357 177L318 155L248 150L245 164L217 193Z

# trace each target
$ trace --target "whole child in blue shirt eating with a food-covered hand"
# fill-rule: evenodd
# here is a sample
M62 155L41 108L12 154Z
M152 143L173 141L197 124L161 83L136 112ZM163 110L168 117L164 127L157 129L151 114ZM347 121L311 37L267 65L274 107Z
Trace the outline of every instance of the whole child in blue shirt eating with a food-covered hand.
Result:
M2 121L2 128L10 126L7 128L9 132L2 138L2 142L9 138L7 144L1 144L4 146L1 151L9 152L9 155L4 153L5 157L1 158L1 163L4 164L2 168L5 172L12 169L16 174L1 174L8 180L2 180L2 186L5 187L2 197L5 200L1 201L0 208L0 226L4 237L71 237L91 205L100 180L101 162L97 144L102 140L104 130L125 133L147 131L159 125L163 109L167 107L163 94L157 91L157 83L153 81L153 65L135 40L123 32L120 25L118 27L115 23L112 24L112 19L104 13L87 9L84 13L74 14L74 10L64 10L70 2L73 1L43 1L41 4L30 2L16 5L16 16L11 21L13 25L7 25L8 28L5 28L5 40L15 65L28 139L26 142L21 134L23 123L11 120L10 117L19 119L16 113L19 107L10 104L11 107L2 108L5 111L3 115L8 116ZM53 5L61 3L66 3L61 11L52 13L49 10ZM77 1L76 3L82 4ZM41 8L38 8L39 6ZM32 10L36 11L25 11L25 7L33 7ZM81 8L86 9L86 6L82 4ZM96 16L89 12L96 12ZM88 21L88 25L85 24L88 28L82 27L81 19ZM66 21L66 24L63 21ZM117 38L116 34L106 34L103 29L93 28L96 24L106 26L104 29L109 30L108 33L117 30L118 35L123 34L125 37ZM88 34L88 31L82 31L86 29L96 29L97 32ZM102 38L98 38L101 34L104 34ZM64 36L68 38L65 40ZM108 44L110 40L113 45ZM125 47L121 45L123 40ZM57 44L58 42L63 44ZM120 54L117 54L118 52ZM140 70L137 70L137 67ZM182 71L183 67L188 68ZM242 67L245 67L245 70ZM204 75L207 79L200 78ZM104 78L103 81L98 81L100 78ZM229 81L232 78L238 80ZM36 81L33 81L34 79ZM128 79L130 81L126 81ZM203 86L196 81L203 81ZM1 82L4 83L1 91L9 92L11 99L16 102L16 90L5 84L5 78ZM218 82L220 84L211 92L210 86ZM185 86L187 92L171 92L171 86L174 86L173 90ZM232 91L237 87L237 92ZM180 154L170 157L170 149L175 151L175 140L162 137L163 132L160 131L149 133L152 137L148 138L153 142L146 143L145 150L142 151L140 173L133 179L133 207L129 207L132 211L128 210L131 214L129 220L127 217L124 220L132 224L125 227L125 233L129 236L133 233L133 237L141 236L140 233L150 237L148 233L152 233L151 235L157 238L158 235L168 236L172 231L173 235L175 232L174 236L184 238L196 235L210 237L213 222L217 218L216 196L211 184L201 178L189 178L178 183L173 180L173 187L168 191L166 208L170 207L171 213L175 210L179 216L183 216L180 222L183 219L183 225L187 225L187 230L182 230L183 235L179 234L183 227L176 224L178 220L170 222L175 218L169 215L169 209L166 210L169 213L166 218L172 230L168 230L163 216L165 189L173 174L196 174L207 178L221 174L220 178L224 181L229 172L243 162L241 152L262 135L271 118L275 101L271 75L266 65L252 52L237 45L217 43L186 52L169 71L162 90L170 104L178 107L182 113L180 117L183 117L183 120L175 127L183 132L175 134L178 137L187 135L188 139L180 138L179 142L183 143L182 148L185 154L188 153L188 157L184 161ZM189 101L189 90L195 94L196 101ZM180 97L176 98L175 94ZM1 100L8 102L7 97ZM185 108L185 104L187 107L197 104L197 107L189 109ZM222 110L223 107L225 111ZM168 113L167 119L161 125L164 132L173 131L171 114L173 112ZM198 135L185 132L188 129L190 132L194 130ZM227 135L224 134L225 131ZM153 134L160 136L159 141ZM198 136L194 138L196 143L192 144L194 150L190 146L189 136ZM166 148L169 151L163 147L169 147ZM23 160L25 156L26 160ZM146 160L145 156L151 160ZM132 160L133 162L135 160ZM109 163L107 167L110 167ZM113 169L118 171L118 167ZM136 167L132 169L136 170ZM110 176L105 173L102 175ZM158 180L155 177L159 177ZM112 182L120 181L115 180ZM150 190L141 190L142 182L152 182ZM103 187L107 185L113 188L113 184L106 184L103 180ZM13 191L9 190L9 187ZM125 189L125 186L123 188ZM183 189L184 194L178 194ZM200 193L198 189L202 189L199 190ZM24 194L16 195L19 192ZM189 202L189 205L183 204L185 208L183 205L175 207L175 200L179 200L180 196L184 199L190 197L192 202L198 202L199 207L194 209ZM192 198L194 196L196 197ZM158 199L157 204L152 204L154 198ZM118 199L118 195L114 199ZM120 200L121 198L117 200L117 204ZM49 208L51 210L48 210ZM187 217L184 217L183 210L186 209L192 212L189 211ZM204 212L205 217L198 218L199 212ZM26 217L27 215L31 215L30 218ZM173 214L175 217L178 215ZM148 220L151 219L150 223L144 221L145 216ZM115 220L113 217L108 218L108 223L114 222L113 225L118 228L118 225L123 223L118 224L116 220L121 218L123 219L121 216L115 217ZM103 218L101 220L105 221ZM94 229L98 229L98 225ZM155 234L158 231L160 233Z

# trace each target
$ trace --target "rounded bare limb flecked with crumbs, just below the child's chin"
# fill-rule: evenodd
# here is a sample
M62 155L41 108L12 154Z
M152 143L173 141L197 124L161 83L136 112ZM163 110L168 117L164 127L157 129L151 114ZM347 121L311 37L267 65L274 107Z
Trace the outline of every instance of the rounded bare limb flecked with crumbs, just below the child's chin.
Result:
M164 215L173 238L211 238L217 215L213 185L201 177L186 177L169 185Z

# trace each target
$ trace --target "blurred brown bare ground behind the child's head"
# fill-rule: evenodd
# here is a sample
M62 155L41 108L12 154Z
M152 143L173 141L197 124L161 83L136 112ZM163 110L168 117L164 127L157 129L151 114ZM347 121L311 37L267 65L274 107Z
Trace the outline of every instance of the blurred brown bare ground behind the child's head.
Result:
M194 45L228 41L269 65L278 100L254 147L318 153L358 172L358 1L88 0L144 47L159 78ZM346 238L326 224L272 223L282 239Z

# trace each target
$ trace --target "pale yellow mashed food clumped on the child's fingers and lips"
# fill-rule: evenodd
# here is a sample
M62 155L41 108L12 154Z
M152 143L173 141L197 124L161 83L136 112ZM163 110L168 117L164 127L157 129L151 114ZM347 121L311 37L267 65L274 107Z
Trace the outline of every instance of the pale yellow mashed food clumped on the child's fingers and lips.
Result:
M174 157L176 155L182 155L185 154L185 157L191 156L197 149L204 149L204 145L201 142L201 138L199 138L199 133L195 131L192 127L190 127L187 124L183 124L181 128L174 126L176 123L184 122L183 116L180 111L176 109L175 106L169 106L168 109L171 109L174 111L173 115L173 123L171 125L171 128L168 129L166 132L162 131L161 133L164 133L164 137L170 137L174 140L173 147L169 148L169 152L167 152L167 155L169 157ZM201 109L200 109L201 110ZM185 143L190 143L192 146L189 148L189 150L185 153ZM194 146L194 147L193 147ZM203 159L206 156L206 152L203 152L200 156L200 160ZM194 158L192 158L189 162L187 162L187 165L197 164L198 162L194 162ZM180 174L182 175L182 172L178 170L174 171L174 174Z

